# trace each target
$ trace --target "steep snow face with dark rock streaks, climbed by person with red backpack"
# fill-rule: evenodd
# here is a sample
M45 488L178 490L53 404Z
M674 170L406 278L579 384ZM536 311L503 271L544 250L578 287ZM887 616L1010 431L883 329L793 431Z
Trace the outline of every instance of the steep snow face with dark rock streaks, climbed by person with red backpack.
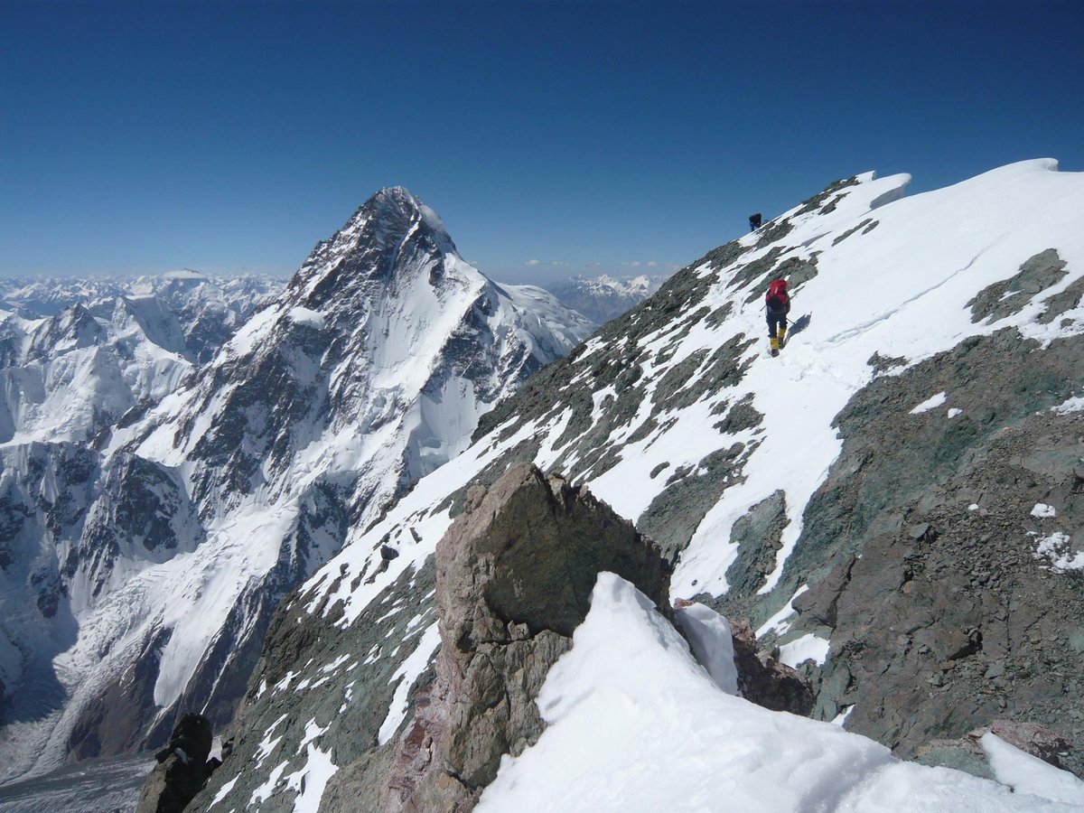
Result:
M762 582L743 585L771 594L802 538L805 507L839 455L834 420L875 376L903 375L1003 328L1035 339L1036 352L1084 335L1084 173L1024 162L912 198L904 197L908 182L866 173L835 184L679 272L487 415L463 454L378 522L356 526L297 604L317 629L344 633L366 618L415 612L416 602L392 596L431 586L424 565L468 485L492 482L518 460L586 485L662 542L678 556L675 596L726 594L738 540L776 528ZM1021 276L1048 249L1059 259L1044 267L1060 270L1037 282ZM761 302L776 276L790 281L793 324L783 354L771 358ZM1069 395L1050 393L1049 406L1069 403ZM949 399L915 420L967 406ZM393 557L382 556L387 550ZM789 598L779 596L775 608ZM780 611L774 628L785 629L789 616ZM372 669L387 672L380 659L401 658L397 651L374 650ZM350 680L364 673L360 667ZM308 713L304 700L301 708ZM283 752L294 747L284 743ZM886 754L847 747L888 771ZM909 771L881 769L882 776ZM813 774L811 782L825 780ZM853 798L864 792L855 785Z

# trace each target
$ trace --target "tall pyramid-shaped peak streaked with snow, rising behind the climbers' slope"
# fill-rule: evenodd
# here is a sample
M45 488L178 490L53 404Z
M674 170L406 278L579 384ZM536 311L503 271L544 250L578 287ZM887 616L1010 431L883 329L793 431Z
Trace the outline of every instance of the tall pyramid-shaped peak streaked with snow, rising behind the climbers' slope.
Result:
M182 343L150 301L126 299L125 324ZM5 679L51 713L7 726L9 775L168 735L180 706L224 722L278 599L590 327L490 282L405 190L377 193L189 386L102 439L78 521L42 553L74 618L50 650L68 699Z

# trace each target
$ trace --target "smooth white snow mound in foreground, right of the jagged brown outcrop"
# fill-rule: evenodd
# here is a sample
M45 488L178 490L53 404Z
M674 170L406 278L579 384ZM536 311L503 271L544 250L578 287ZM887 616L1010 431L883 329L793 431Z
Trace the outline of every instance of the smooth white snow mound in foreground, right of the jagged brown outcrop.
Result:
M650 601L612 573L599 576L591 611L538 704L549 727L522 754L504 758L479 813L720 805L992 813L1069 811L1084 800L1084 783L1034 758L1042 766L1034 780L1019 770L999 772L1011 774L1014 793L957 771L902 762L831 723L723 692Z

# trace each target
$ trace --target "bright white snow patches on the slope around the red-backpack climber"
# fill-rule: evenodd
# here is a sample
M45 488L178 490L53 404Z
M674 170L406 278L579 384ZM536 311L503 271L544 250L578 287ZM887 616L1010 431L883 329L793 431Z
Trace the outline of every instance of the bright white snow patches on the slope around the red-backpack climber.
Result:
M1062 314L1064 326L1035 322L1046 298L1084 275L1084 231L1077 228L1080 212L1084 211L1084 173L1058 172L1057 163L1047 159L1023 162L913 198L901 197L909 176L875 179L867 173L863 178L864 182L844 190L830 212L811 211L790 218L795 228L786 235L786 243L799 247L778 260L815 255L818 273L793 292L791 317L795 321L803 314L809 317L808 326L792 334L784 352L772 359L759 345L748 347L741 356L748 369L733 387L681 409L662 402L659 405L663 420L656 420L657 425L644 431L655 405L651 382L698 351L713 351L735 337L764 334L760 301L743 301L740 289L736 291L732 281L734 269L712 270L706 266L702 273L710 274L712 282L707 301L714 306L733 301L737 307L713 323L699 312L676 314L666 331L640 343L647 350L668 348L664 359L648 352L642 363L640 379L648 383L648 398L620 431L599 441L604 448L620 450L617 460L609 461L611 465L605 470L589 470L577 479L619 514L636 521L666 487L666 478L651 475L657 467L666 464L670 470L696 468L713 451L735 442L752 446L744 480L723 492L683 552L674 576L674 595L724 593L725 572L736 555L736 546L727 542L734 522L782 489L788 525L776 566L763 590L775 585L801 533L804 507L839 453L841 441L833 418L872 379L874 371L867 360L873 353L902 358L906 365L949 349L969 335L991 334L1008 325L1017 325L1025 335L1043 340L1084 333L1082 307ZM863 241L857 235L838 240L872 215L878 223L873 232L876 240ZM756 241L752 234L739 243L752 246ZM994 322L971 321L966 306L976 292L1011 275L1028 258L1050 246L1057 248L1070 270L1062 281L1016 314ZM770 250L770 246L753 248L743 255L739 264L748 264ZM680 340L668 343L674 335ZM598 340L589 341L573 361L582 367L584 378L590 374ZM694 371L688 379L697 376ZM746 397L763 414L761 426L734 434L715 428L721 408ZM597 409L606 409L601 393ZM916 415L916 420L919 417ZM567 420L565 408L555 404L542 422L530 428L543 447L535 459L539 465L552 463L563 448L576 440L565 434ZM479 438L475 448L493 448L502 442L505 430L494 429ZM637 439L628 442L632 437ZM568 467L572 461L565 462ZM467 478L474 473L461 472ZM439 505L451 490L466 482L454 478L455 474L442 472L431 481L420 482L411 495L413 515L390 514L367 533L356 535L352 541L357 544L318 573L317 582L330 585L331 575L337 575L339 567L360 572L375 540L386 534L404 539L409 516L413 522L420 516L417 512L428 515L425 506ZM446 525L436 522L430 533L420 532L417 541L402 546L412 566L420 566L429 555L437 542L431 533L439 535ZM409 562L397 559L396 564L398 575ZM389 571L377 580L378 584L383 586L391 577ZM350 605L363 605L372 592L362 590L348 596L345 588L339 591L338 596ZM318 591L313 605L320 597L322 592Z

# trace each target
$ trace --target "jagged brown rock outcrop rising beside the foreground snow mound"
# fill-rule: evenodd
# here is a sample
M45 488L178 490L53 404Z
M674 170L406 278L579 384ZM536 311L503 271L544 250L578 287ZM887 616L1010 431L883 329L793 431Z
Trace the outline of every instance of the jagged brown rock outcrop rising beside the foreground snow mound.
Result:
M669 614L670 567L658 549L564 479L513 466L437 546L441 648L436 680L415 696L386 803L465 811L501 756L542 733L542 682L571 645L598 572L634 583Z

